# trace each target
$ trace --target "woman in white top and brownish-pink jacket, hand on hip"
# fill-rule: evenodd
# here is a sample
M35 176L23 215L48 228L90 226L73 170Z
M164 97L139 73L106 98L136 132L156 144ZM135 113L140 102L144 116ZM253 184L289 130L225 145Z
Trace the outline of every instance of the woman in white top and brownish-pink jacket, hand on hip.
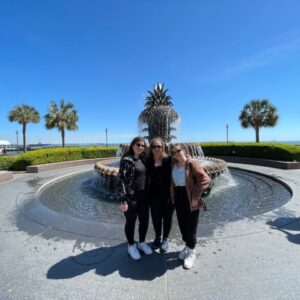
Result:
M199 219L199 208L204 202L203 192L209 187L210 177L199 161L186 155L180 144L171 146L173 158L171 197L175 209L184 249L178 258L184 260L184 268L192 268L195 261L196 233Z

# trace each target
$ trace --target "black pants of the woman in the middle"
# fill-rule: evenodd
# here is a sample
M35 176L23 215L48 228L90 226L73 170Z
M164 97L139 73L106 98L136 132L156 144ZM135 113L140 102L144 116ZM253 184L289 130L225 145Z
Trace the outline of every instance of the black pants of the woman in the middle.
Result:
M156 238L161 237L162 228L163 238L168 238L174 213L170 192L150 191L150 209Z

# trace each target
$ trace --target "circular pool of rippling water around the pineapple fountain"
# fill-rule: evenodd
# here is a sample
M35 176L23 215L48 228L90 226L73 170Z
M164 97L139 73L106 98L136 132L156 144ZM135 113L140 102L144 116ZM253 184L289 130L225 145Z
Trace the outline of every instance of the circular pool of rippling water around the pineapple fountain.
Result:
M200 223L227 223L252 218L284 205L291 198L289 189L278 180L262 174L230 169L235 184L224 186L215 179L212 193L206 198L207 212ZM61 214L79 219L123 223L119 203L109 192L109 183L96 172L67 177L46 186L39 201Z

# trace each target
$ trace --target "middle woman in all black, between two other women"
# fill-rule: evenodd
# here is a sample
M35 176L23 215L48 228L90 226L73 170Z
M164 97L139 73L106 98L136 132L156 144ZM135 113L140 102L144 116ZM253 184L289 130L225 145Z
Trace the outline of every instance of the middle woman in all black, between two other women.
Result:
M153 248L166 252L172 227L174 206L171 201L171 157L166 154L165 143L160 138L150 142L147 161L150 209L155 240Z

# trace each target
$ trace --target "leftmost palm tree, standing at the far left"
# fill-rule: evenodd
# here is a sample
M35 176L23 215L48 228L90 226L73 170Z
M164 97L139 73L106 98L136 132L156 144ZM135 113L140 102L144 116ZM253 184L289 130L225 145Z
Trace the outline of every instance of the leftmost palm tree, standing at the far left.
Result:
M34 107L26 104L17 105L9 112L8 119L10 122L18 122L22 125L23 151L26 152L26 127L28 123L38 123L40 121L39 112Z

